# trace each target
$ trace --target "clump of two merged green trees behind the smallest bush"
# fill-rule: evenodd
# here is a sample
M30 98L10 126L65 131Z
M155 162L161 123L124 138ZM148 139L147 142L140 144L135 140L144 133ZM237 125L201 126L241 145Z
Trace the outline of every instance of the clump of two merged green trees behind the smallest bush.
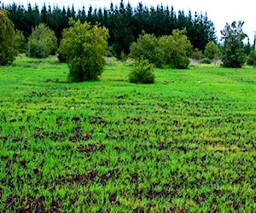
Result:
M165 65L177 69L187 68L192 45L184 33L184 30L174 30L171 36L141 35L137 43L131 43L130 56L136 60L148 60L160 68Z

